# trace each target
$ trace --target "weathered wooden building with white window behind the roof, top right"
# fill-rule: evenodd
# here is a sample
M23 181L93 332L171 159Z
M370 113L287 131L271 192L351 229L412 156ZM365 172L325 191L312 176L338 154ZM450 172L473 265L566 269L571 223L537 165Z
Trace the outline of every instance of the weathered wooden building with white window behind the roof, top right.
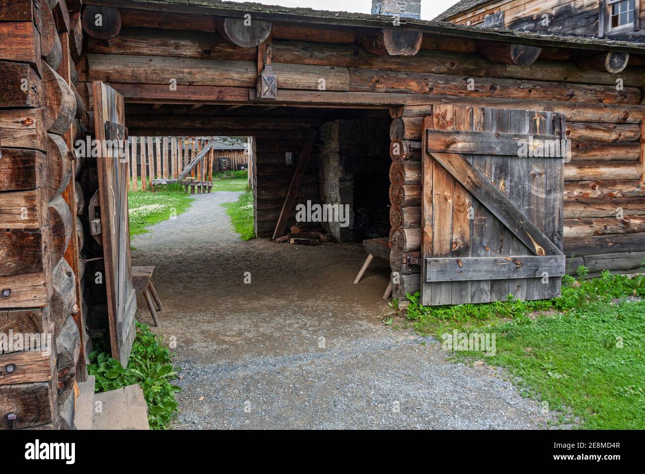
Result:
M435 21L645 43L643 0L461 0Z

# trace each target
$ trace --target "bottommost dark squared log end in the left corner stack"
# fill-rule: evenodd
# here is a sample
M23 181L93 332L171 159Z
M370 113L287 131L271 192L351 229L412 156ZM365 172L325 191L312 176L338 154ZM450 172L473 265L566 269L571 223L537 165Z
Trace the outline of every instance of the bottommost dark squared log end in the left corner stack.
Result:
M0 428L21 430L52 424L54 400L50 382L0 386Z

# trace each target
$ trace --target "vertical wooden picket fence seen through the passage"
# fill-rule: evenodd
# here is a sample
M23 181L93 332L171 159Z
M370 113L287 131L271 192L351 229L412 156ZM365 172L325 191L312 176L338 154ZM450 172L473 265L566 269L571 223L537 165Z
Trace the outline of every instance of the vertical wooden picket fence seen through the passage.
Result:
M126 147L130 165L128 190L154 191L152 180L177 179L210 139L203 137L130 137ZM215 150L189 173L194 181L212 181ZM141 179L141 183L139 183Z

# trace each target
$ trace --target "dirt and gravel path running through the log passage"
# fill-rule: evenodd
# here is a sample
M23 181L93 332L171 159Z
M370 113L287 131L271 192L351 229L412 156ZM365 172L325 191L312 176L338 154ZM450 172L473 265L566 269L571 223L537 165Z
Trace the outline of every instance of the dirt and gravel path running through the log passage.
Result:
M361 245L240 241L220 205L238 195L197 195L132 242L135 264L157 266L161 331L177 341L175 428L485 430L553 420L501 370L446 362L438 342L384 326L389 266L372 262L353 285ZM138 306L151 324L143 299Z

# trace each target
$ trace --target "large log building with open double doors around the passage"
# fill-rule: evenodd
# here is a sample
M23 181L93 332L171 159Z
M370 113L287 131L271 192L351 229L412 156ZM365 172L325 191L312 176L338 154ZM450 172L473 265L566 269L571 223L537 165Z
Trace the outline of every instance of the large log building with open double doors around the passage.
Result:
M77 140L252 136L255 230L272 237L296 202L328 199L319 161L338 133L367 130L361 150L387 158L390 143L389 190L353 196L389 193L394 296L536 299L581 264L630 273L645 257L644 91L645 48L620 41L206 0L0 0L0 333L52 333L55 348L0 354L0 426L74 426L90 335L127 363L130 174ZM570 156L510 152L530 137ZM361 150L352 166L372 169L379 150Z

